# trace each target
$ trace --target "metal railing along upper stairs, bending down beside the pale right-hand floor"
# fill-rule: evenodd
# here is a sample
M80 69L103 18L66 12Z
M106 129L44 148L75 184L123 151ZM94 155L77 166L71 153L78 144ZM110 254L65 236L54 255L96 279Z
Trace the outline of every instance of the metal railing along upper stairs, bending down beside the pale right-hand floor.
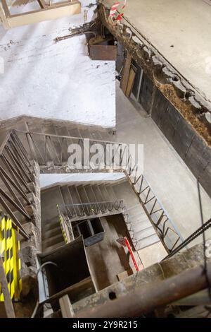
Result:
M32 159L39 162L40 166L48 166L49 162L53 162L53 165L63 165L67 163L68 146L72 143L78 143L81 146L82 155L84 154L84 150L86 150L84 138L82 137L58 136L56 134L32 133L27 131L16 132L18 136L25 136L25 138L27 138L28 153L31 155ZM129 182L132 184L146 215L148 215L149 220L160 237L162 244L170 253L177 245L183 242L184 239L162 207L162 203L160 203L158 197L153 193L150 184L148 184L146 178L141 174L139 165L136 165L132 155L129 153L128 146L124 143L90 139L89 147L91 148L95 143L103 146L103 153L100 158L102 160L105 158L105 151L108 150L108 146L112 148L112 158L110 158L109 164L108 160L103 160L103 165L106 166L105 170L109 171L112 169L124 172L127 179L129 179ZM98 162L99 170L101 171L102 160ZM75 207L75 209L76 208L77 207ZM84 205L82 210L85 211L86 209L88 212L87 205ZM70 212L73 213L73 211Z

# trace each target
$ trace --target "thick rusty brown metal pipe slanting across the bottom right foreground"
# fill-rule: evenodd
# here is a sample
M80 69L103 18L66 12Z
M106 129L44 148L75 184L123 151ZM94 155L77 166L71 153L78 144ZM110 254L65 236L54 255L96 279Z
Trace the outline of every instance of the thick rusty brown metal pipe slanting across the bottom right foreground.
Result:
M207 263L211 281L211 262ZM148 283L128 295L108 301L98 307L84 309L76 318L89 317L138 317L155 308L170 304L207 287L204 267L198 266L160 282Z

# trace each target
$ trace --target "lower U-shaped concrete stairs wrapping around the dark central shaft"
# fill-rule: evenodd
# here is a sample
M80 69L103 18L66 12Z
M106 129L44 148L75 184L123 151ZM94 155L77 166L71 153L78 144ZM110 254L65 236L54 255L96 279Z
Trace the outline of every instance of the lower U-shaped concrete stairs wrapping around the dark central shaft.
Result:
M117 200L124 200L124 209L98 211L99 215L122 213L136 250L160 242L129 182L126 180L115 183L89 182L81 184L75 182L74 184L53 186L41 191L42 250L51 250L64 244L58 222L57 204L61 207L77 204L75 213L77 213L78 218L72 218L72 220L83 220L91 218L91 215L87 215L86 209L82 209L84 203L99 205L100 202ZM70 217L69 219L71 220Z

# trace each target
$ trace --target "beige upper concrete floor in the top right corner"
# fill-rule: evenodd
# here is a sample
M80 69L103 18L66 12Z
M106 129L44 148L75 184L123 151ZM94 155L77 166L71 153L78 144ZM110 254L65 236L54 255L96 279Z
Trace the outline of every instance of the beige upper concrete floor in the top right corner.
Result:
M129 0L124 18L211 100L211 1Z

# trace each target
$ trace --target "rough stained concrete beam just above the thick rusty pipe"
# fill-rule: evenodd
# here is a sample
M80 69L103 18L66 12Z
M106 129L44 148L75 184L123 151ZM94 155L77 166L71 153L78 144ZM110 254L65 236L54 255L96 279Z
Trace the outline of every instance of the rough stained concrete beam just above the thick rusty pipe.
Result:
M207 259L207 261L210 261L210 259ZM110 300L109 297L111 292L118 299L124 295L136 292L137 289L148 287L149 285L171 278L174 275L184 273L191 268L203 266L203 263L203 244L197 244L191 249L175 254L172 259L155 263L118 283L98 291L94 295L72 304L73 310L77 316L84 309L96 308L108 301L112 302L113 300Z

